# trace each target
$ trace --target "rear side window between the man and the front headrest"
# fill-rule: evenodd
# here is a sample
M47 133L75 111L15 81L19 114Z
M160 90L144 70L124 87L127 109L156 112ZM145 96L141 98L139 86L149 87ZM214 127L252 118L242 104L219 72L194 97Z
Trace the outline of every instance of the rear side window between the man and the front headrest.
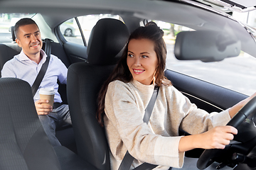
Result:
M60 25L60 32L68 42L87 45L93 26L95 26L97 21L101 18L115 18L122 20L121 17L111 14L78 16L77 18L71 18L70 20L62 23ZM79 26L82 32L80 31ZM83 39L85 40L85 43Z

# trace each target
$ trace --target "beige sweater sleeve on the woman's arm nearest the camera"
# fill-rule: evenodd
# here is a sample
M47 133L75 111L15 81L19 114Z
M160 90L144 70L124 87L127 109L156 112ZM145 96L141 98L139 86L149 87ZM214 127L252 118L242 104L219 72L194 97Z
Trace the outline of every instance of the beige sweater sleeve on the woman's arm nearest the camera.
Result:
M154 134L143 122L144 111L139 111L131 90L117 81L110 83L107 89L105 113L114 130L117 131L117 134L114 134L107 130L113 156L117 159L123 151L122 157L124 157L126 150L118 149L117 146L124 145L129 154L140 162L181 168L183 153L178 152L181 137L163 137ZM120 137L120 142L112 142L117 135Z

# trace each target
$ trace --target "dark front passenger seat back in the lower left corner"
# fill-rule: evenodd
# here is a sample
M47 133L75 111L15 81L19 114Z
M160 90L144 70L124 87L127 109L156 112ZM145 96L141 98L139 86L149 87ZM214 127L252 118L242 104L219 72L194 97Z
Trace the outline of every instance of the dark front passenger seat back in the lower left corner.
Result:
M26 81L1 78L0 94L1 170L95 170L66 147L52 147Z

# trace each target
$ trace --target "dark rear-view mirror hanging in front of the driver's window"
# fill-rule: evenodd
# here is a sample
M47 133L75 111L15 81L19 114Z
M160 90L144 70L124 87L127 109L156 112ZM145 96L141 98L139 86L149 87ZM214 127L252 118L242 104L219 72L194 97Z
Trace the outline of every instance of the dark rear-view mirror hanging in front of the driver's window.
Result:
M228 33L213 30L178 33L174 55L178 60L217 62L240 54L241 42Z

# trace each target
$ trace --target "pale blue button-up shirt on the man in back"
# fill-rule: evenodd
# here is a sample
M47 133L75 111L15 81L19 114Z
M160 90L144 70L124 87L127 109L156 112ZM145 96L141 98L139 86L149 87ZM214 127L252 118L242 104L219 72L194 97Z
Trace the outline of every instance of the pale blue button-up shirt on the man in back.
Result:
M1 70L1 76L23 79L32 86L43 63L46 62L46 52L41 50L41 55L43 55L43 58L37 64L36 62L30 60L25 55L23 50L21 50L20 54L15 55L13 59L9 60L4 64L4 67ZM38 91L41 88L53 87L55 89L54 102L61 103L62 100L60 98L60 94L58 93L57 81L59 80L61 84L67 84L67 73L68 69L67 67L65 67L65 64L63 64L63 62L61 62L61 60L58 59L58 57L56 57L55 55L50 55L48 69L46 71L45 76L43 77L43 80L38 88ZM34 96L34 101L38 101L40 98L38 91Z

